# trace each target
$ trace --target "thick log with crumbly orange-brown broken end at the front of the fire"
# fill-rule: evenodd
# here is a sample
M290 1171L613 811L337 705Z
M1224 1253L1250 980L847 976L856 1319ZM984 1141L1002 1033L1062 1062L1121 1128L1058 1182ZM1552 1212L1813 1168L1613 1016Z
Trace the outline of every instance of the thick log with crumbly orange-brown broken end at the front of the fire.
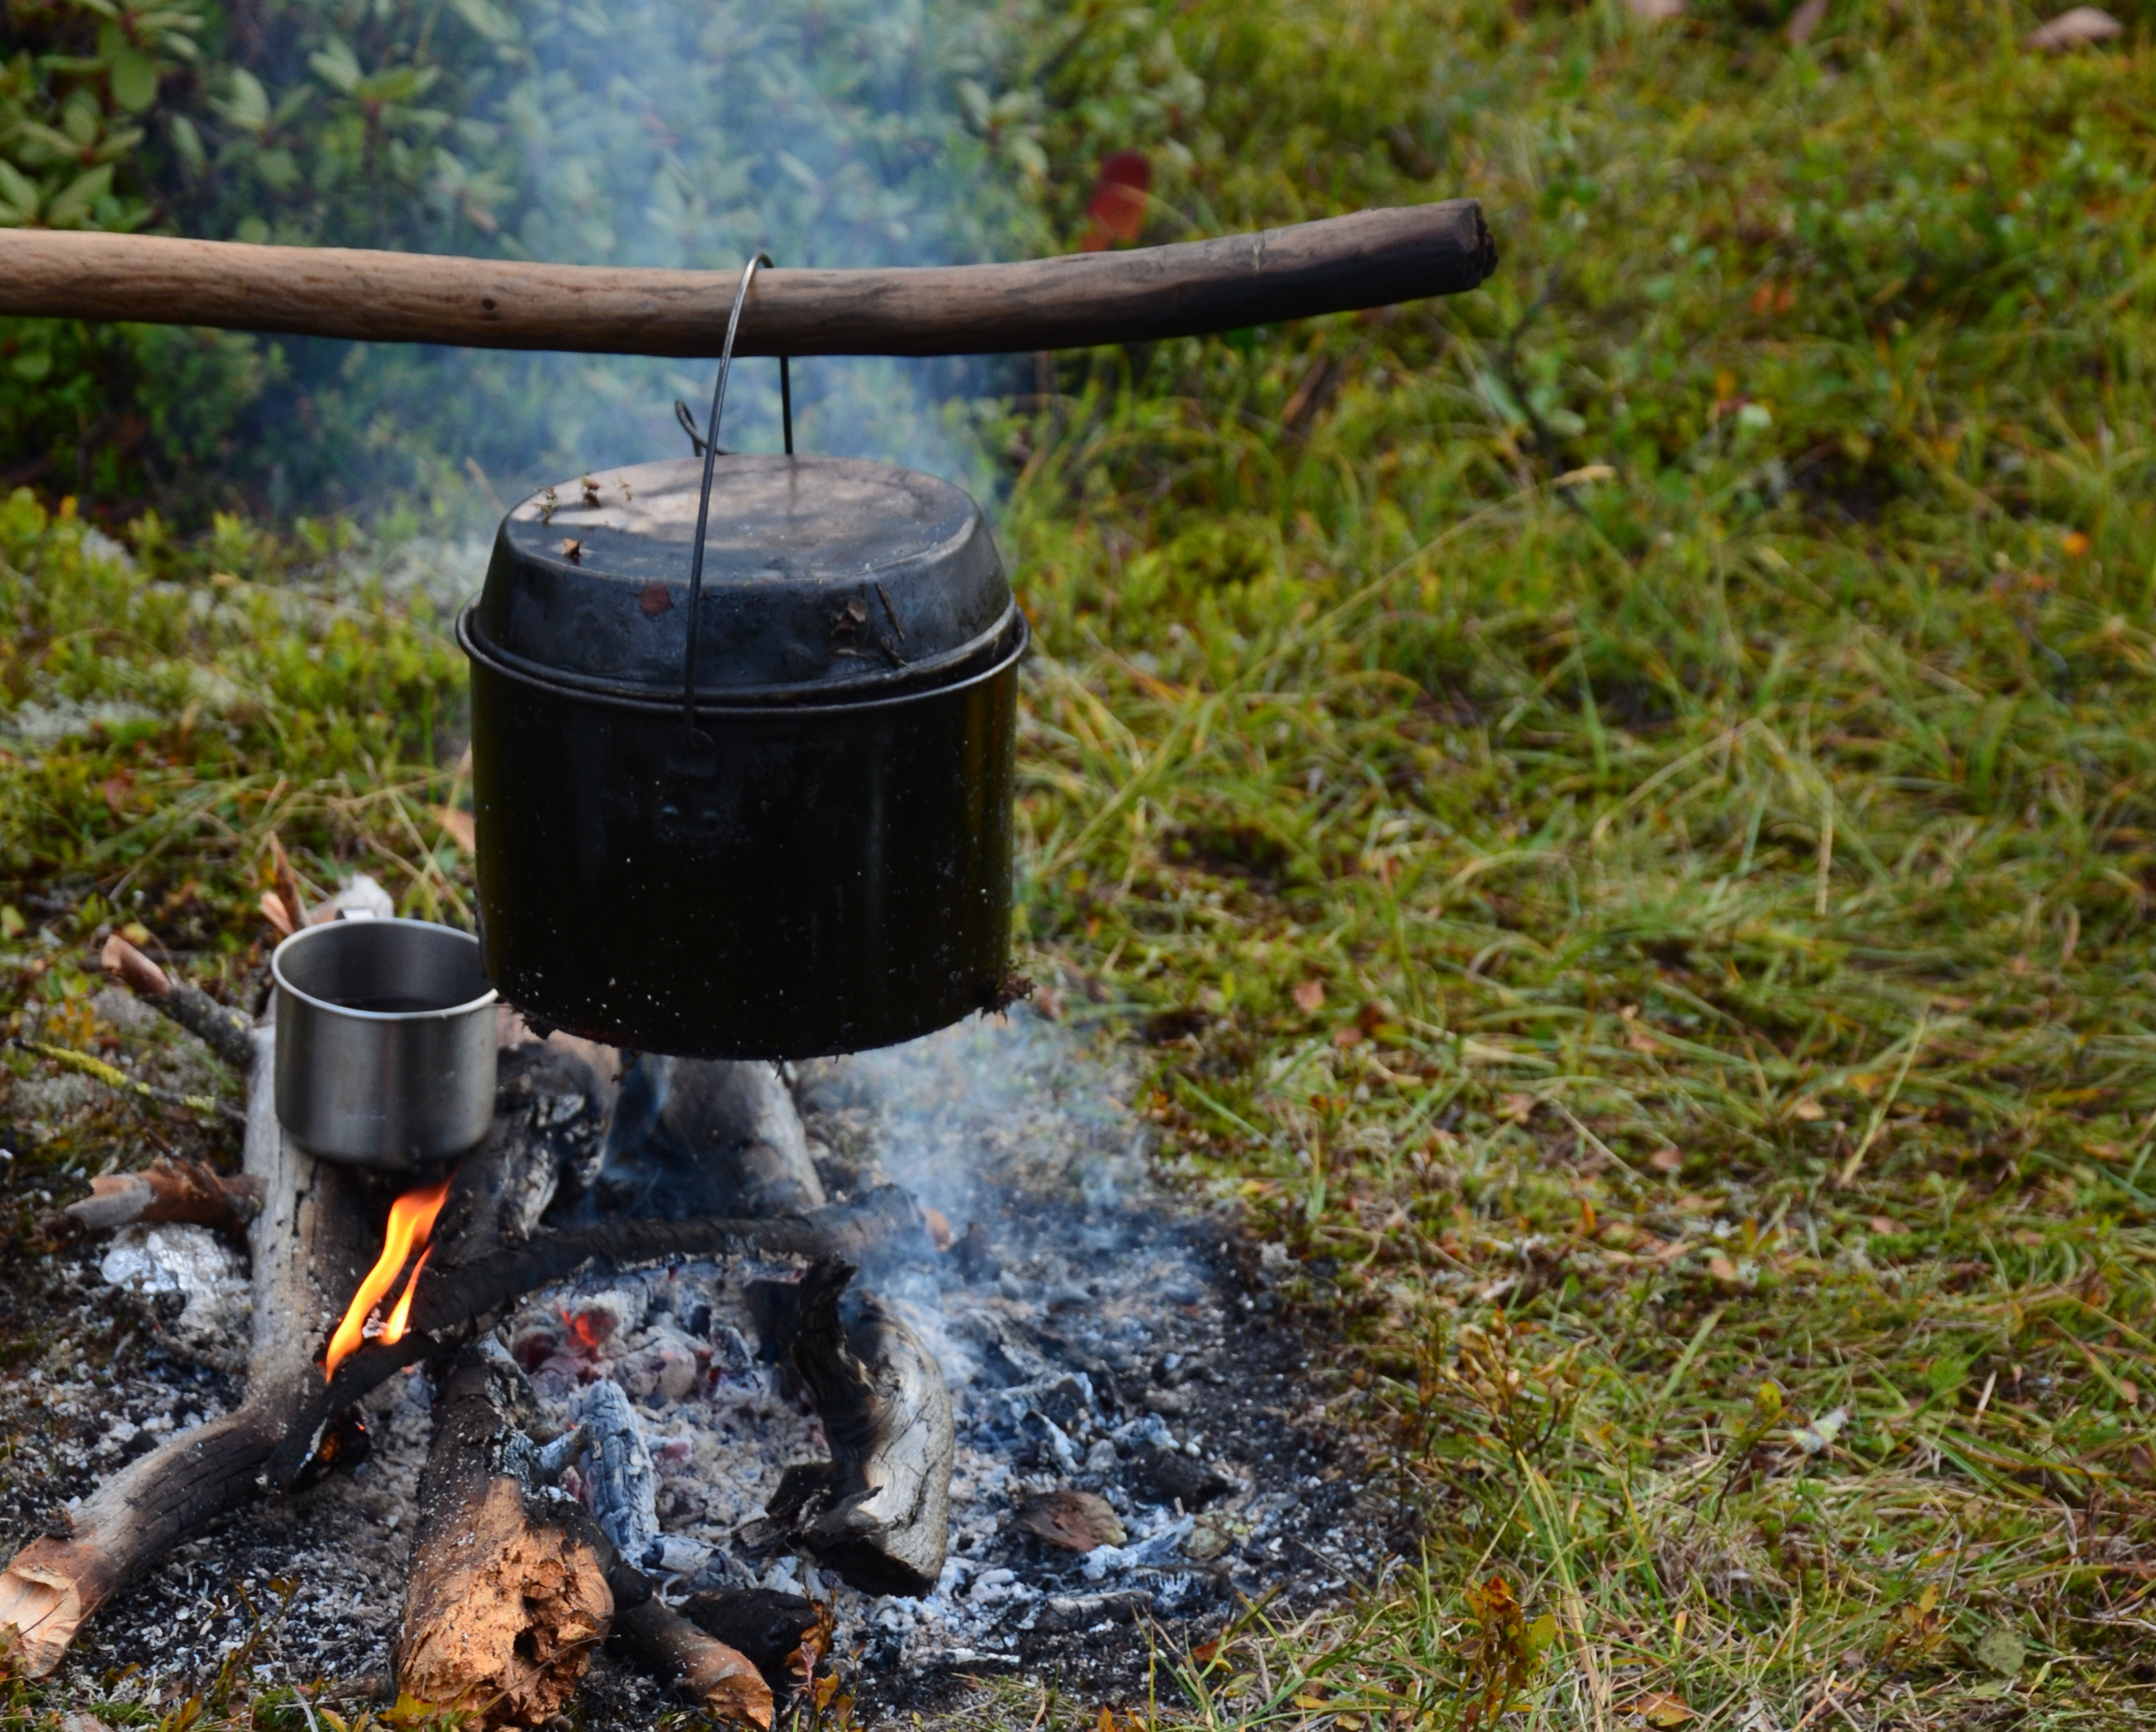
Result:
M533 1445L530 1385L466 1348L442 1380L397 1635L397 1687L476 1726L539 1726L576 1695L614 1594L591 1514Z

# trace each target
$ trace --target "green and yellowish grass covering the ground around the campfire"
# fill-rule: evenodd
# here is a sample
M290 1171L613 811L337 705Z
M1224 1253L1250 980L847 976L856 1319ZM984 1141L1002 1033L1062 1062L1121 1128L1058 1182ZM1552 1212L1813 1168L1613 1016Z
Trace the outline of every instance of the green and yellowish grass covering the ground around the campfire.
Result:
M1473 192L1507 257L983 416L1028 966L1427 1510L1160 1717L1453 1726L1503 1577L1520 1726L2156 1723L2156 52L2031 24L1162 13L1162 233ZM272 824L457 910L438 628L224 537L0 520L9 692L147 712L0 764L32 1020L110 919L237 973Z

